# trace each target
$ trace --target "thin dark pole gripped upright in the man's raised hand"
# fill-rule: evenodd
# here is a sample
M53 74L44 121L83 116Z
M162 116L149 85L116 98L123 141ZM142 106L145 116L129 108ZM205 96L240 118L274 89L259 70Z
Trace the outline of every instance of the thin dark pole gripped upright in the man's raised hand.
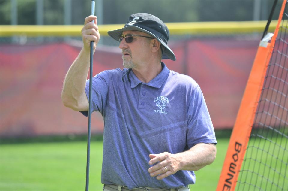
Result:
M95 15L95 1L91 0L91 15ZM92 21L94 23L94 20ZM89 83L89 111L88 111L88 143L87 143L87 164L86 164L86 191L89 190L89 165L90 165L90 139L91 139L91 110L92 110L92 78L93 78L93 46L90 42L90 83Z

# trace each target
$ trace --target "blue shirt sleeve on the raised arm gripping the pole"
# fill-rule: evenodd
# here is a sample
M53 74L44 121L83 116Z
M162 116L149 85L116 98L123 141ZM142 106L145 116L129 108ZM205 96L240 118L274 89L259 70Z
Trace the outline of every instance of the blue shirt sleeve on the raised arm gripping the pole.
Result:
M109 72L103 71L92 78L92 112L99 111L102 116L105 112L107 105L108 84L109 84ZM86 81L85 93L89 101L89 83ZM80 111L84 116L88 116L88 111Z

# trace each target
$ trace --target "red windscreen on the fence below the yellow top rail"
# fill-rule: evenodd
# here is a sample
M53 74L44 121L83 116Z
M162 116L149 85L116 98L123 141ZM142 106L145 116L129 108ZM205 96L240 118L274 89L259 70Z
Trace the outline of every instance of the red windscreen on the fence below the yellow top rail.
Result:
M191 76L200 85L215 129L232 128L259 40L191 39L172 42L176 61L163 60L171 70ZM64 107L65 74L80 51L65 43L1 44L1 137L87 133L88 118ZM98 47L97 73L123 68L118 47ZM92 113L92 133L103 132L103 118Z

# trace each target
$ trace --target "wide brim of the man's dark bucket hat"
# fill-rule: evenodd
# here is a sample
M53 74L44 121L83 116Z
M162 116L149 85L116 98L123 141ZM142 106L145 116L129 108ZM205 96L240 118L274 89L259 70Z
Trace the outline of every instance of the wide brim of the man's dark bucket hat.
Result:
M149 35L152 35L154 38L156 38L163 46L163 54L162 54L162 59L171 59L171 60L176 60L176 56L173 53L173 51L168 47L168 45L162 41L160 38L155 36L153 33L146 31L145 29L142 29L138 26L125 26L122 29L117 29L113 31L108 31L108 35L114 38L116 41L119 41L119 36L122 35L123 31L140 31L140 32L145 32Z

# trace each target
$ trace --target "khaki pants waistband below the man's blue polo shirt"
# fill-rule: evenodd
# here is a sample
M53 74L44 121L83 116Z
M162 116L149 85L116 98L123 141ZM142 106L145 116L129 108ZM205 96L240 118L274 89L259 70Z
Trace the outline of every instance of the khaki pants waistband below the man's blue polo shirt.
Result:
M181 187L181 188L149 188L149 187L141 187L141 188L134 188L129 190L125 186L118 186L115 184L104 184L103 191L189 191L189 186Z

